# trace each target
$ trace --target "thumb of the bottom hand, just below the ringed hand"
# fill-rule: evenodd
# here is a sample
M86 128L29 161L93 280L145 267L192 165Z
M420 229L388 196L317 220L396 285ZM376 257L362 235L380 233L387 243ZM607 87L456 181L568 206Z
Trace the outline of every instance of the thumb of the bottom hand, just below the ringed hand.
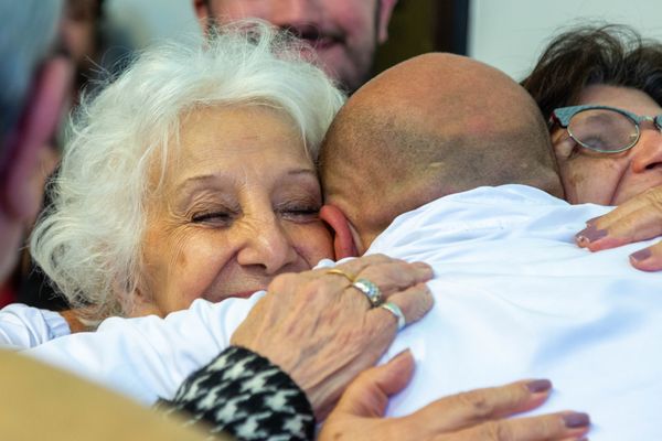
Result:
M355 417L384 416L388 397L403 390L414 374L414 357L409 349L388 363L372 367L354 379L341 397L334 412Z

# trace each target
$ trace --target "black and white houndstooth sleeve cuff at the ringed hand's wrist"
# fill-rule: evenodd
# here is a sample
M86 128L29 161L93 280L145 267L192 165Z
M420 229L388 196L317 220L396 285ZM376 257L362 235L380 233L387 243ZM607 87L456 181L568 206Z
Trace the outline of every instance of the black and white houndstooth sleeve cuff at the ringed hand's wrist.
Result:
M163 406L163 404L166 406ZM231 346L159 407L204 421L212 433L239 440L312 440L314 416L306 394L267 358Z

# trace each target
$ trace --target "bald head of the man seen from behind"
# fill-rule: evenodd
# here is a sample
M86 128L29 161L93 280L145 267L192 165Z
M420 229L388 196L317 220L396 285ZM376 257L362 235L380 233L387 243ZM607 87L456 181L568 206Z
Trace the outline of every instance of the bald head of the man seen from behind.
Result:
M364 246L397 215L481 185L562 195L533 99L502 72L451 54L412 58L359 89L320 161L327 202Z

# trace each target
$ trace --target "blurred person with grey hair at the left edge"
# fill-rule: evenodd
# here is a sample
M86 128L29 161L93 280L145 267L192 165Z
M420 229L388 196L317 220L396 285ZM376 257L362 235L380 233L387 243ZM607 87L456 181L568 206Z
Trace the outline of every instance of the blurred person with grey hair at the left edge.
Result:
M3 2L0 17L0 281L1 304L13 301L9 276L42 206L44 182L52 164L54 135L71 92L71 58L57 45L61 3ZM34 4L32 4L34 3ZM38 4L39 3L39 4ZM24 4L24 3L21 3ZM26 29L39 32L25 32Z

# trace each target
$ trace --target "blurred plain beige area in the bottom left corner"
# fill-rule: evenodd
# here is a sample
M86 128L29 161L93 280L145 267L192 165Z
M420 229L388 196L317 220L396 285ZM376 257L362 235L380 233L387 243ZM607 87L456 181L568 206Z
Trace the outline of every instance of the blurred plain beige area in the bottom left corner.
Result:
M114 392L0 351L0 440L204 440Z

